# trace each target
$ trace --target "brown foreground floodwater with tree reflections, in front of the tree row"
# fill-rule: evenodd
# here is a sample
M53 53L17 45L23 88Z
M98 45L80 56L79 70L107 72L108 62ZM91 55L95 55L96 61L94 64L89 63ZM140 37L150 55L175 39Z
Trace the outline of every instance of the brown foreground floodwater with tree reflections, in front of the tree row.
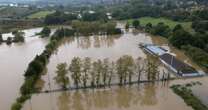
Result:
M23 110L192 110L161 84L39 94L31 102Z

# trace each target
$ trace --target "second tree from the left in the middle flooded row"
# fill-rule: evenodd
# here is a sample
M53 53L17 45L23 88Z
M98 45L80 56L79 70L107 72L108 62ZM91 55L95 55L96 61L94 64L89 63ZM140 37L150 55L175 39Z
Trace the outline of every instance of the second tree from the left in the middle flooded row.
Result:
M74 80L76 88L79 87L79 83L81 81L81 66L81 59L78 57L73 58L69 66L69 71L72 73L71 77Z

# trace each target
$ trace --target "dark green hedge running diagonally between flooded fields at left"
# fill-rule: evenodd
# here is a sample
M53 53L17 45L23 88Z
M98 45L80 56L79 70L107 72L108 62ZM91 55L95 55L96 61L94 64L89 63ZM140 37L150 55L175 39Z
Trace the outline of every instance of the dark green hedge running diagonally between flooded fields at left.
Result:
M31 94L38 91L38 88L36 88L36 82L45 70L50 56L58 46L58 42L65 37L65 34L62 34L62 30L68 33L68 37L74 35L74 33L71 33L71 30L69 29L58 29L51 37L49 44L46 45L43 53L37 55L34 60L30 62L24 74L25 81L20 88L21 96L17 98L16 102L12 105L12 110L20 110L25 101L31 97Z

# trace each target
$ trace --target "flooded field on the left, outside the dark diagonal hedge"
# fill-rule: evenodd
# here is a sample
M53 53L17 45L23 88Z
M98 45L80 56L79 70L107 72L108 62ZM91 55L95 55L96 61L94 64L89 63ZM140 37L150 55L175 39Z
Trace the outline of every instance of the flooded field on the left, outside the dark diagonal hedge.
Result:
M9 110L24 81L24 71L32 59L41 53L48 39L33 36L41 28L24 30L25 43L0 44L0 110ZM3 34L3 38L10 34Z

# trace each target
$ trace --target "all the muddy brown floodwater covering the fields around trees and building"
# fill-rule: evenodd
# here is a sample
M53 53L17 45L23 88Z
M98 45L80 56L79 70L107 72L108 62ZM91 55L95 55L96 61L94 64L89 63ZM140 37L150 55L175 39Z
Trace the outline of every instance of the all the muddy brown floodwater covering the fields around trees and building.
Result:
M43 51L48 39L34 36L41 28L24 30L25 43L0 45L0 110L9 110L18 96L19 88L24 81L24 71L28 63ZM4 34L6 39L11 33ZM31 37L32 36L32 37ZM167 41L161 37L150 37L141 32L131 30L121 36L90 36L66 39L50 58L47 73L41 78L43 90L60 88L54 81L56 66L59 63L71 63L74 57L90 57L92 60L109 58L116 61L123 55L130 55L134 59L147 58L139 43L155 43L165 45L184 61L191 61L180 51L167 46ZM194 67L197 68L193 64ZM160 66L161 70L165 68ZM198 69L198 68L197 68ZM199 96L206 91L200 88ZM6 94L6 95L5 95ZM205 94L205 92L204 92ZM207 98L202 97L206 101ZM141 84L131 87L112 87L106 89L80 90L35 94L27 101L23 110L192 110L183 100L175 95L169 84Z

